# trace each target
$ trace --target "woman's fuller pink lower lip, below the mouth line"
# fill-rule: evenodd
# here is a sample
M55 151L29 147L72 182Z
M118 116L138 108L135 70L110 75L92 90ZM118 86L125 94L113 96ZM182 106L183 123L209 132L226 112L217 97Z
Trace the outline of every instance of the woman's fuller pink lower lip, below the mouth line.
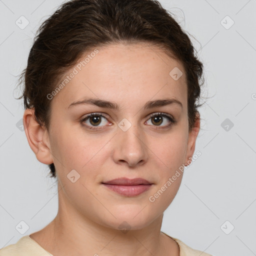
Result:
M151 184L140 184L140 185L114 185L114 184L104 184L109 189L126 196L135 196L148 190Z

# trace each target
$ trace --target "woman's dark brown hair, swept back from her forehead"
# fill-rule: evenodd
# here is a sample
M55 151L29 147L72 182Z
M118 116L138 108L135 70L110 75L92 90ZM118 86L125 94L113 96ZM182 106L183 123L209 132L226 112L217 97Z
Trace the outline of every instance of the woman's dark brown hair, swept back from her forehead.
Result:
M204 83L203 64L179 24L156 0L70 0L38 28L27 66L19 77L24 83L24 108L34 108L40 125L49 129L51 93L60 78L84 52L110 43L149 42L180 60L187 80L189 131L193 127ZM200 83L200 80L202 82ZM49 164L55 177L54 164Z

